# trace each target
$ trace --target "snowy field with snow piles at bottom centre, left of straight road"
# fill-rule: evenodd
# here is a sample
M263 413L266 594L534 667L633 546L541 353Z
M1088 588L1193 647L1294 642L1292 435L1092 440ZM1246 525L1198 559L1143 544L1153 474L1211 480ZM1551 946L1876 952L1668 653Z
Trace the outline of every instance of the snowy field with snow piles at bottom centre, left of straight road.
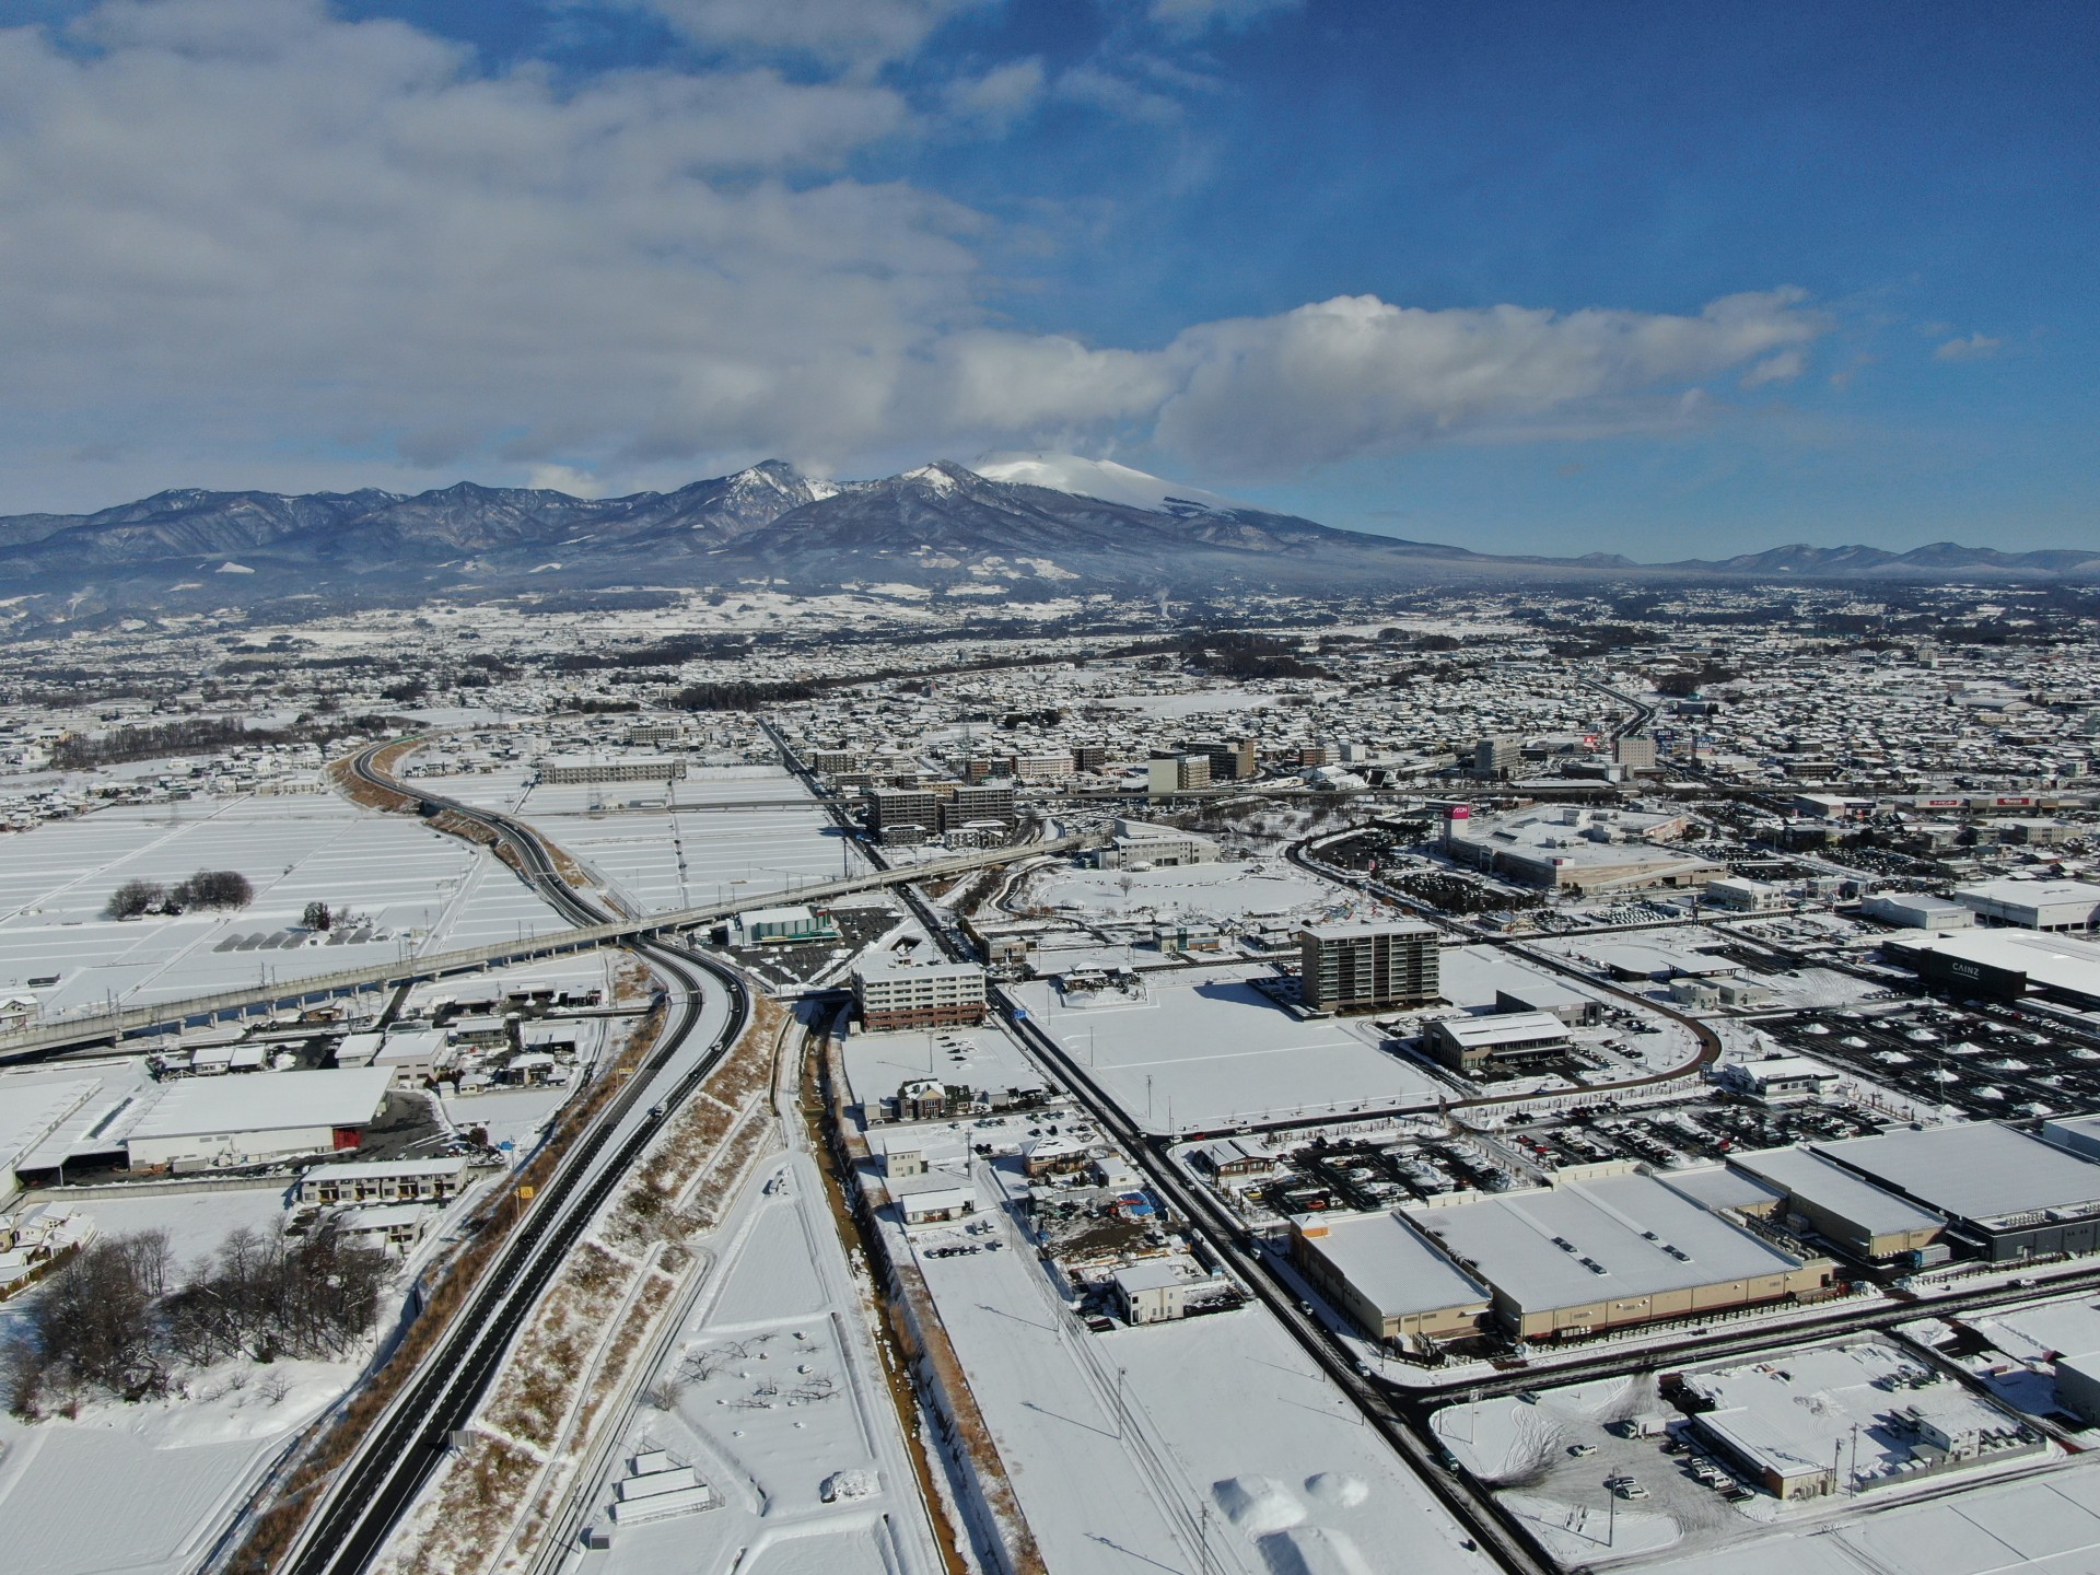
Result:
M979 1163L979 1193L1000 1176ZM911 1233L916 1262L1052 1571L1422 1575L1478 1569L1428 1491L1260 1308L1088 1334L991 1218ZM892 1233L903 1245L903 1233Z

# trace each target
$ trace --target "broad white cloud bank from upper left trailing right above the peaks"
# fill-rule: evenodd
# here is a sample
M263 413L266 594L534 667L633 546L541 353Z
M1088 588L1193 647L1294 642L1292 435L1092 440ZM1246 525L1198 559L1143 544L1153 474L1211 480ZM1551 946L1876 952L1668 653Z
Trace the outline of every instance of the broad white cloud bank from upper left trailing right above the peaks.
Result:
M1029 65L979 78L981 111L1018 113ZM993 330L989 220L836 174L907 128L859 80L489 78L319 0L0 29L0 506L1147 441L1270 475L1680 422L1686 388L1821 332L1787 292L1697 315L1342 296L1155 351Z

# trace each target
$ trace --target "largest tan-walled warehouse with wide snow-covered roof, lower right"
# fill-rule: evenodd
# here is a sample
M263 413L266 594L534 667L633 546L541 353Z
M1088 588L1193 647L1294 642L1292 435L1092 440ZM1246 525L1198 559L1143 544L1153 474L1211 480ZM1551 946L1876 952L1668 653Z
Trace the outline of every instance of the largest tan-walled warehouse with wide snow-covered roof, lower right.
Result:
M1632 1170L1407 1220L1491 1287L1495 1319L1525 1340L1783 1302L1831 1283L1829 1260L1783 1252Z

